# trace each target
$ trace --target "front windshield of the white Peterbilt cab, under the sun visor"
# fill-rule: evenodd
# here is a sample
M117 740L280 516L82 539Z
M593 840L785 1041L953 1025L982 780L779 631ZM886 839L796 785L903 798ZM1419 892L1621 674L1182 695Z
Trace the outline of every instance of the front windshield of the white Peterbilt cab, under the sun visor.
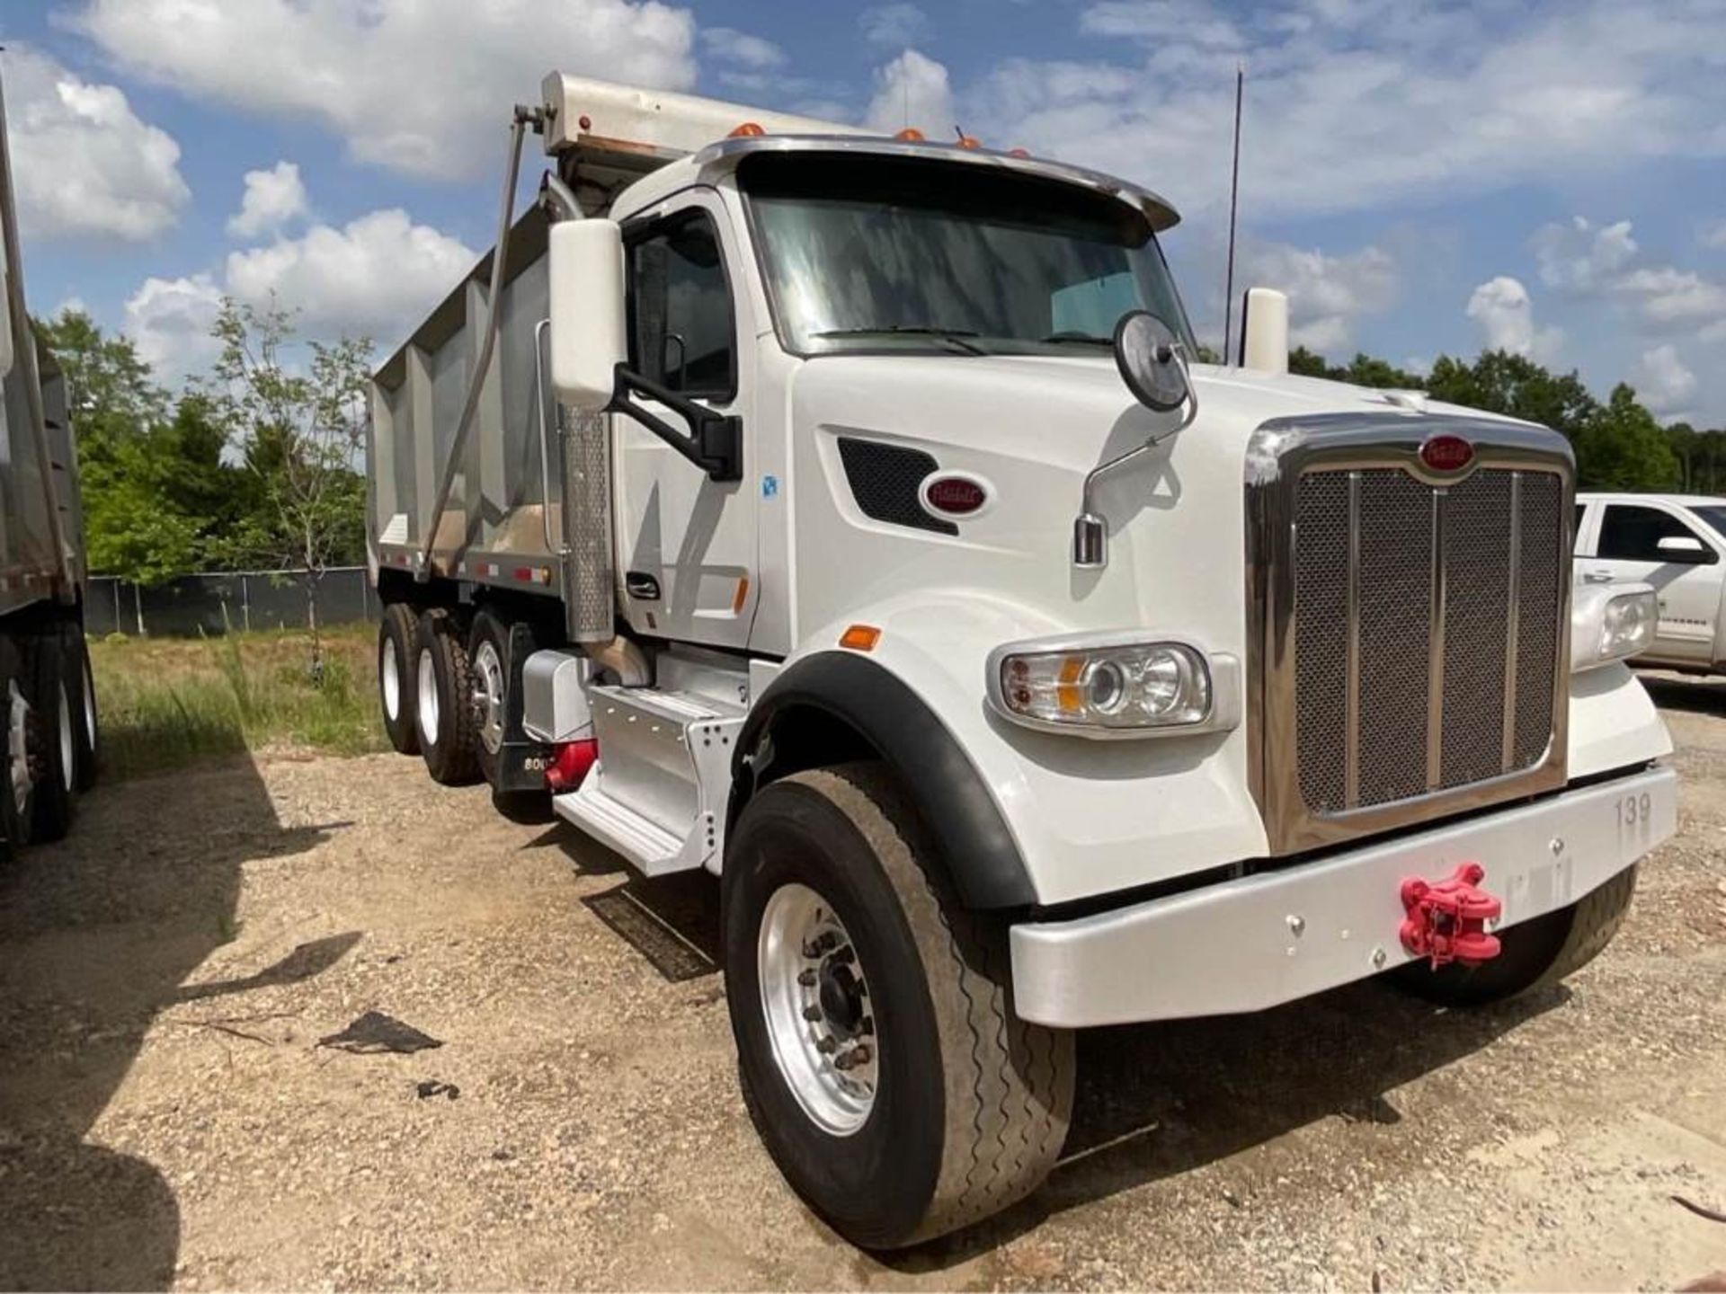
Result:
M1191 331L1144 216L935 159L758 154L739 171L785 347L1072 354L1146 309Z

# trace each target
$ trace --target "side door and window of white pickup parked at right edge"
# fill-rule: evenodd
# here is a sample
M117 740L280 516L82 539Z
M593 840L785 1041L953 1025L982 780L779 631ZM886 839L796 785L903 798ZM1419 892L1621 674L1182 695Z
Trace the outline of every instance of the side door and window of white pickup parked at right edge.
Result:
M1719 625L1719 542L1660 504L1607 502L1591 557L1579 557L1584 583L1647 581L1660 600L1654 650L1664 661L1712 664Z

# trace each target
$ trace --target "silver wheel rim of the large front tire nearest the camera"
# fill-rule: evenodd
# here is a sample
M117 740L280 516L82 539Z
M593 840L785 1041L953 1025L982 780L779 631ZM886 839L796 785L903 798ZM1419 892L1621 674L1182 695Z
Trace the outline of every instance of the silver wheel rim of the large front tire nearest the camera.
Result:
M808 885L777 889L761 913L756 975L780 1077L820 1128L849 1137L875 1106L880 1044L863 966L832 904Z

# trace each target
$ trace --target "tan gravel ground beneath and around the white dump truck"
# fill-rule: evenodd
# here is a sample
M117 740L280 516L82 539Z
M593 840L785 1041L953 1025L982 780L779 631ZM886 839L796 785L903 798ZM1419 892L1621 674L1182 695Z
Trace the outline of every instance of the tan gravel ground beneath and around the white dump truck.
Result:
M1652 685L1681 835L1572 983L1087 1033L1049 1184L885 1259L749 1128L706 876L394 756L105 787L0 873L0 1285L1681 1287L1726 1270L1671 1201L1726 1208L1726 683ZM318 1046L366 1011L444 1046Z

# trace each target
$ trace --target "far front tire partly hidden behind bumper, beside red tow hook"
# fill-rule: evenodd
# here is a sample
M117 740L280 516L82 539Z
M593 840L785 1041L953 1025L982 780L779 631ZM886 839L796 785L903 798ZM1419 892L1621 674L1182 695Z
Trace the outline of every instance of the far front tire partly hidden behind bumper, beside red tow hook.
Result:
M1398 966L1391 982L1439 1006L1488 1006L1531 994L1598 958L1624 925L1635 894L1631 866L1567 908L1502 930L1503 947L1491 961L1479 966L1453 961L1436 971L1415 961Z

